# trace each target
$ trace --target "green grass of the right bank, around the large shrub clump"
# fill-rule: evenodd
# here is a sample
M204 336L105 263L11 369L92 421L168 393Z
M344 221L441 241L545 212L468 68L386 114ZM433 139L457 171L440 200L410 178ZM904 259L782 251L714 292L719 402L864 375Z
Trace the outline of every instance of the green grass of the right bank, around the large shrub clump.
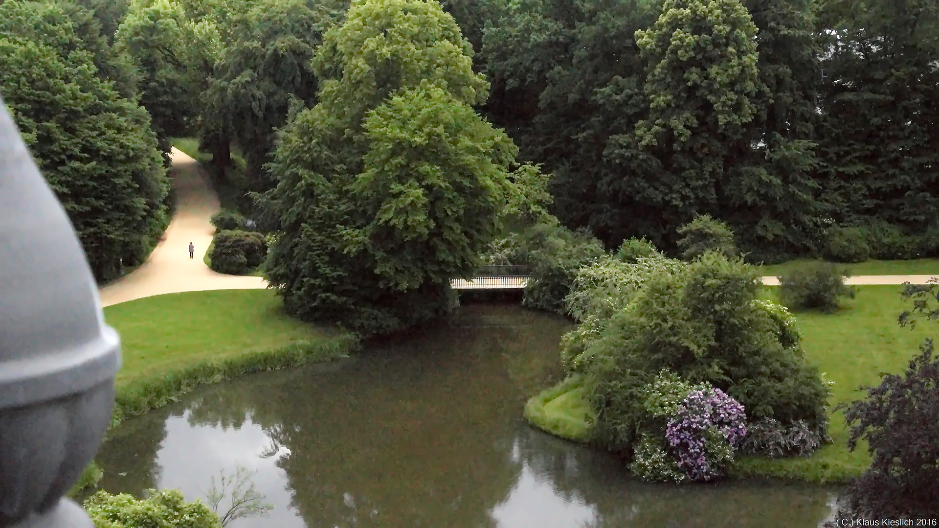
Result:
M939 334L939 323L922 321L916 330L901 328L897 316L908 308L901 299L899 286L857 287L854 300L843 302L832 315L818 312L796 314L803 334L808 362L817 365L826 378L835 381L832 407L863 396L857 389L878 384L881 372L899 373L919 349L926 337ZM775 298L777 288L767 288L766 296ZM575 424L576 384L556 387L532 398L526 416L532 424L565 438L586 441L587 424ZM540 398L540 401L539 401ZM545 402L557 401L553 407ZM862 474L870 466L867 443L848 450L849 431L840 412L833 413L829 433L833 443L825 445L808 458L738 458L732 474L738 476L770 475L792 477L810 482L843 482Z

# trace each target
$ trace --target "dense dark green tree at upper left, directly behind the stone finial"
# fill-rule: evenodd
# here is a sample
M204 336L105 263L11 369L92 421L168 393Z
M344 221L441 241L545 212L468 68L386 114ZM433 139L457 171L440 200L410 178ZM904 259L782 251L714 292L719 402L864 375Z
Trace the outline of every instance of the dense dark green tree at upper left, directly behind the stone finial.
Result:
M97 65L126 66L92 22L69 4L0 4L0 93L104 282L159 239L169 185L150 116Z

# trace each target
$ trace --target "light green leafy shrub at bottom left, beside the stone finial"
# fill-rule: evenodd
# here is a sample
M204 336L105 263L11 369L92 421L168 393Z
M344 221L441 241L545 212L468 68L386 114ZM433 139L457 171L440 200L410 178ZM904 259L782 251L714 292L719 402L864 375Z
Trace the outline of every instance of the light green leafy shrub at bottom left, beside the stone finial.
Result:
M222 528L222 520L196 499L187 503L178 489L148 489L138 501L129 493L99 491L85 500L97 528Z

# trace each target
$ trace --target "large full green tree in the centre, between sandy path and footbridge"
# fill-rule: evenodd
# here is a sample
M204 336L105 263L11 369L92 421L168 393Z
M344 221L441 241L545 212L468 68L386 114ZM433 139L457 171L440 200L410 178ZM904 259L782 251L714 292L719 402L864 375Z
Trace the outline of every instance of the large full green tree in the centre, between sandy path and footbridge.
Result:
M260 198L287 310L382 334L454 307L516 184L516 147L472 110L488 84L436 2L354 2L323 37L318 102L292 113ZM524 167L518 170L527 170Z

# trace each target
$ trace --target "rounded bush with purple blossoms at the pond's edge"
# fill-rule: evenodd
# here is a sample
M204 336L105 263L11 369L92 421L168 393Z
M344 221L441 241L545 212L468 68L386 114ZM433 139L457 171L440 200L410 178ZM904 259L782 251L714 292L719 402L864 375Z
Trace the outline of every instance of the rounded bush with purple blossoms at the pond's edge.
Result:
M691 480L723 476L747 436L744 406L720 389L692 391L669 419L665 438Z

